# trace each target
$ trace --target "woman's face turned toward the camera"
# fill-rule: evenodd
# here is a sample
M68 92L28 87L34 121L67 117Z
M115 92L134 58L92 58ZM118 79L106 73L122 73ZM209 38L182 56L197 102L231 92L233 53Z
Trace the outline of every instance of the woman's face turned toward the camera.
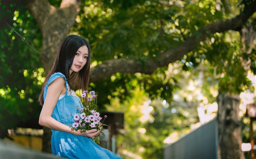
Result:
M73 63L69 70L69 75L71 75L72 72L79 72L86 64L87 58L88 58L88 48L86 45L84 45L80 47L76 52Z

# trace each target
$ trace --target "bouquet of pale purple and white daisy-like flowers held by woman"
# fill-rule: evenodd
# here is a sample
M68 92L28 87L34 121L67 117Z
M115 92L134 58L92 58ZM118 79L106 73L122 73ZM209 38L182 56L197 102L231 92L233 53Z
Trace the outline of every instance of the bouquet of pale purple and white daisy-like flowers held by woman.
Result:
M90 91L89 95L87 95L88 91L83 91L83 94L80 97L80 108L76 107L77 114L71 114L74 118L74 123L70 125L72 131L81 130L81 132L85 132L86 130L96 129L100 130L101 126L106 126L103 124L104 120L107 116L104 116L103 121L99 116L99 112L97 112L97 95L95 95L95 91ZM99 135L93 138L94 142L99 144Z

